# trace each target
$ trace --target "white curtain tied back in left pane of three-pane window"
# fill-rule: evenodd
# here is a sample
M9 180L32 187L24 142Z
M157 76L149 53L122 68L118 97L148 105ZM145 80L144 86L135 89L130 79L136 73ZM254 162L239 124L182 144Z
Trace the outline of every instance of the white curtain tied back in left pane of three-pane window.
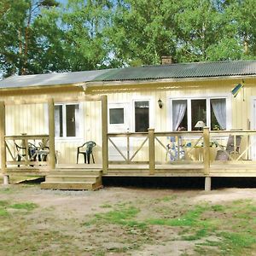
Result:
M187 109L186 100L172 101L172 128L177 131Z

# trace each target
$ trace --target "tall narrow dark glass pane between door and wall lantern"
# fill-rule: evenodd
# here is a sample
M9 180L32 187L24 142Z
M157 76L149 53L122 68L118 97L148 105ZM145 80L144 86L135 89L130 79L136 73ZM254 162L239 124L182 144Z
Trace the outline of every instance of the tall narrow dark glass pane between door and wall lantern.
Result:
M149 128L149 102L135 102L135 131L148 131Z

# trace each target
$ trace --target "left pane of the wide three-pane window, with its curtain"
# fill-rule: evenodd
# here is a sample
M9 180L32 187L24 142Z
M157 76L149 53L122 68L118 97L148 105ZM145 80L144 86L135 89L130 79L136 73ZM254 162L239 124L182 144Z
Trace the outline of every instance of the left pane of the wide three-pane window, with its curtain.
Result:
M187 100L172 101L173 131L188 131Z

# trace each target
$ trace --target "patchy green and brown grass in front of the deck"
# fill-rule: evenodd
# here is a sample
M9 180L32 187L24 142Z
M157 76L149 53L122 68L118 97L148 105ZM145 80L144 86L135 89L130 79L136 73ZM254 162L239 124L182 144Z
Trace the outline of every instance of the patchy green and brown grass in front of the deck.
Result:
M116 204L106 201L101 212L78 219L72 212L60 218L55 207L15 201L12 196L18 188L0 189L3 255L137 255L149 246L172 248L180 241L192 245L192 255L256 252L255 201L195 204L177 195ZM32 185L20 188L31 189ZM184 249L183 255L191 252Z

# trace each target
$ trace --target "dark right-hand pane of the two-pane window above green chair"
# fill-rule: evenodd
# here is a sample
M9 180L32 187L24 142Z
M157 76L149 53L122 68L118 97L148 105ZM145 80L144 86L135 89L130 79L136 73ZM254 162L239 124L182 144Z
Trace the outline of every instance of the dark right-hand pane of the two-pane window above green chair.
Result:
M76 112L79 105L66 105L67 137L76 136Z

